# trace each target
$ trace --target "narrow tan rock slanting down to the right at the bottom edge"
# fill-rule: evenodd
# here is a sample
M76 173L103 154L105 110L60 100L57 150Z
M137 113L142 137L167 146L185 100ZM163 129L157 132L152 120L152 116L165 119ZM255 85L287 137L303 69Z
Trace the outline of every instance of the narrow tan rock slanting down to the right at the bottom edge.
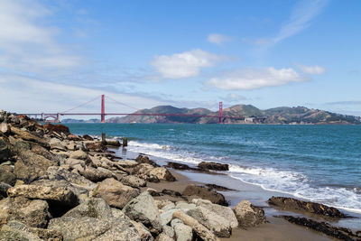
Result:
M220 239L210 232L207 227L201 225L197 219L191 218L189 215L180 210L176 210L173 213L173 218L179 218L185 225L191 227L202 240L220 241Z

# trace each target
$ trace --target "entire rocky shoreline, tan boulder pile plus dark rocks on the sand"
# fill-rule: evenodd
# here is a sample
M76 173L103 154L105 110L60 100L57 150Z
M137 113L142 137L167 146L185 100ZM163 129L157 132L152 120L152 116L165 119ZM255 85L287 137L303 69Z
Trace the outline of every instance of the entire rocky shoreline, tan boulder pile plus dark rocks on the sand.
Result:
M169 162L163 167L145 155L121 160L107 151L109 145L120 146L70 134L65 125L40 125L0 111L0 240L220 240L235 228L266 222L264 210L247 200L228 207L218 192L227 188L216 184L187 185L181 191L149 188L150 183L177 181L167 167L213 173L227 171L225 164L202 162L190 168ZM269 203L347 218L318 203L281 197ZM329 236L361 238L315 220L282 218Z

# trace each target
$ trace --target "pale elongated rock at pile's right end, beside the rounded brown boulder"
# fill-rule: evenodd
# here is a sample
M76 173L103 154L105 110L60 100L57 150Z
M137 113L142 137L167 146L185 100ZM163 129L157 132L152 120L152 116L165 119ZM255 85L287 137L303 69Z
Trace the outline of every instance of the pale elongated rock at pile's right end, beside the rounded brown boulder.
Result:
M209 211L216 213L218 216L222 218L225 218L228 222L229 227L232 228L238 227L238 221L236 219L236 215L231 208L221 206L218 204L213 204L211 201L204 199L193 199L192 203L202 208L208 209Z

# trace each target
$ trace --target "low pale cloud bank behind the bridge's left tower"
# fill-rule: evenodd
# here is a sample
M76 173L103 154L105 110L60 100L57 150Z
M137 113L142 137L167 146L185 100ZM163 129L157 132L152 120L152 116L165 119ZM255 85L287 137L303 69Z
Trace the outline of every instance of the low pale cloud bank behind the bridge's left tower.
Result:
M97 100L75 111L80 113L98 113L100 112L100 95L102 94L113 97L120 102L125 100L127 106L135 108L149 108L166 104L164 101L154 97L140 97L139 95L124 94L101 88L76 87L14 74L1 74L0 83L1 108L17 113L58 113L83 104L97 96L99 97ZM116 102L106 98L106 112L128 113L134 112L134 109L118 105ZM98 118L99 116L96 117Z

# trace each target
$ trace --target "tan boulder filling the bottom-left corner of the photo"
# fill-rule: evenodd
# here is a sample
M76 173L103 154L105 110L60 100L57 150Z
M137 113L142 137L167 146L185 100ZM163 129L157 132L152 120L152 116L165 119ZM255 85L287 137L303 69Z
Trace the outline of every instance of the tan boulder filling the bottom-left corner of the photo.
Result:
M0 229L0 240L51 240L61 241L60 232L44 228L27 227L21 222L10 221Z

